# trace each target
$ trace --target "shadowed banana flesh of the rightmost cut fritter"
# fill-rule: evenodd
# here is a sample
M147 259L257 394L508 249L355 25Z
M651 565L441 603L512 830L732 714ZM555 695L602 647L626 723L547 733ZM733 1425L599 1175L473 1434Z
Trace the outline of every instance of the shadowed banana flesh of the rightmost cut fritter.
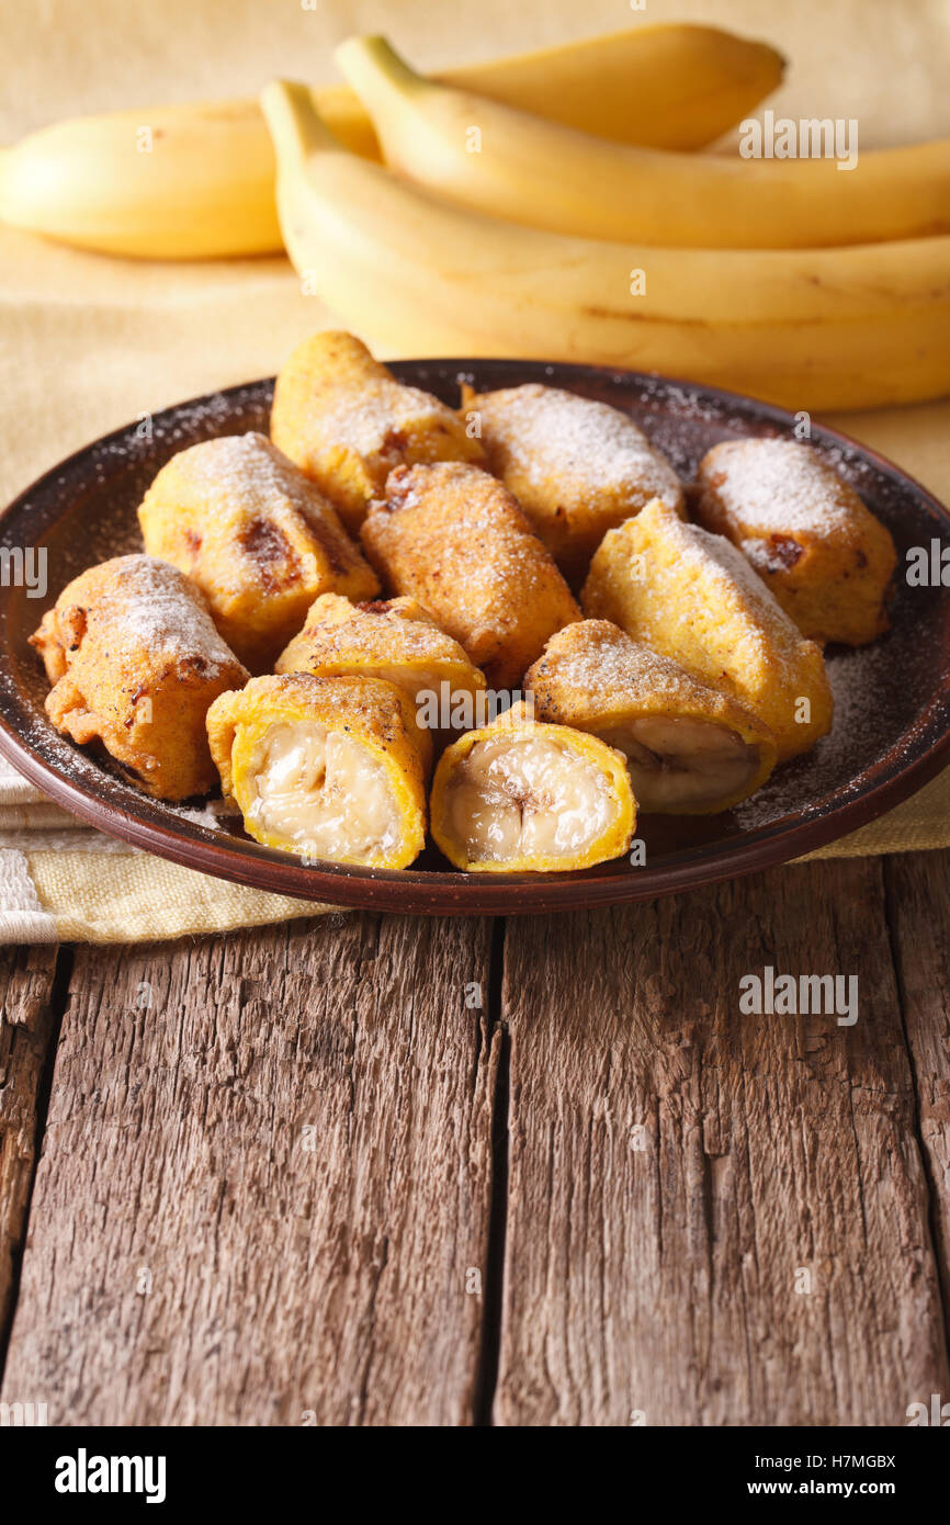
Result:
M711 810L752 784L759 766L756 749L735 730L704 720L642 715L598 735L625 755L633 793L645 811Z

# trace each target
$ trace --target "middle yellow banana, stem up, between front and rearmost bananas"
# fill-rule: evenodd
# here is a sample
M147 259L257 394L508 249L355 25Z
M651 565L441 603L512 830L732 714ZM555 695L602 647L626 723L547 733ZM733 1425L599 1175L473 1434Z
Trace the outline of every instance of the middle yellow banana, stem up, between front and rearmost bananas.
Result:
M557 233L691 249L810 249L950 233L950 139L833 159L605 143L415 73L383 37L337 63L386 163L459 206Z

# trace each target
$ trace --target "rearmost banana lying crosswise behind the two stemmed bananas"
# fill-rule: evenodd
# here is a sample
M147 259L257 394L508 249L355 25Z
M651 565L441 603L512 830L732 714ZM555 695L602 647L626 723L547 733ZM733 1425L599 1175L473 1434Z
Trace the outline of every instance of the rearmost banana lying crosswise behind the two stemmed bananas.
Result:
M593 133L697 148L781 76L781 56L762 43L715 27L650 26L442 78ZM314 102L348 148L378 157L352 90L316 90ZM256 101L117 111L0 149L0 221L145 259L270 253L281 249L273 178Z

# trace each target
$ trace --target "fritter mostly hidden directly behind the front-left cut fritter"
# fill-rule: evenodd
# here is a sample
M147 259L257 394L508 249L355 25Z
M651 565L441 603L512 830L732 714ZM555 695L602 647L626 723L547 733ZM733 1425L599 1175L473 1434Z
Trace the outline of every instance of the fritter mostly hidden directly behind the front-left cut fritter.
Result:
M276 671L323 677L361 673L395 683L412 703L427 769L432 732L441 729L430 724L430 715L444 717L445 730L450 730L456 700L474 700L485 689L485 674L413 598L351 604L337 593L323 593L313 604L300 634L278 659Z

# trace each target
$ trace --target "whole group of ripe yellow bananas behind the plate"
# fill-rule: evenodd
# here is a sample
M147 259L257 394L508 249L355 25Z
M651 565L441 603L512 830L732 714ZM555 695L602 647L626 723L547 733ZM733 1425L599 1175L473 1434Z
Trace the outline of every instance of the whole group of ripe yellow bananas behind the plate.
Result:
M950 390L950 142L848 174L695 154L782 73L711 27L439 79L383 38L337 61L354 93L267 87L270 139L246 102L47 128L0 154L0 217L152 258L282 239L308 290L403 354L656 369L796 410Z

